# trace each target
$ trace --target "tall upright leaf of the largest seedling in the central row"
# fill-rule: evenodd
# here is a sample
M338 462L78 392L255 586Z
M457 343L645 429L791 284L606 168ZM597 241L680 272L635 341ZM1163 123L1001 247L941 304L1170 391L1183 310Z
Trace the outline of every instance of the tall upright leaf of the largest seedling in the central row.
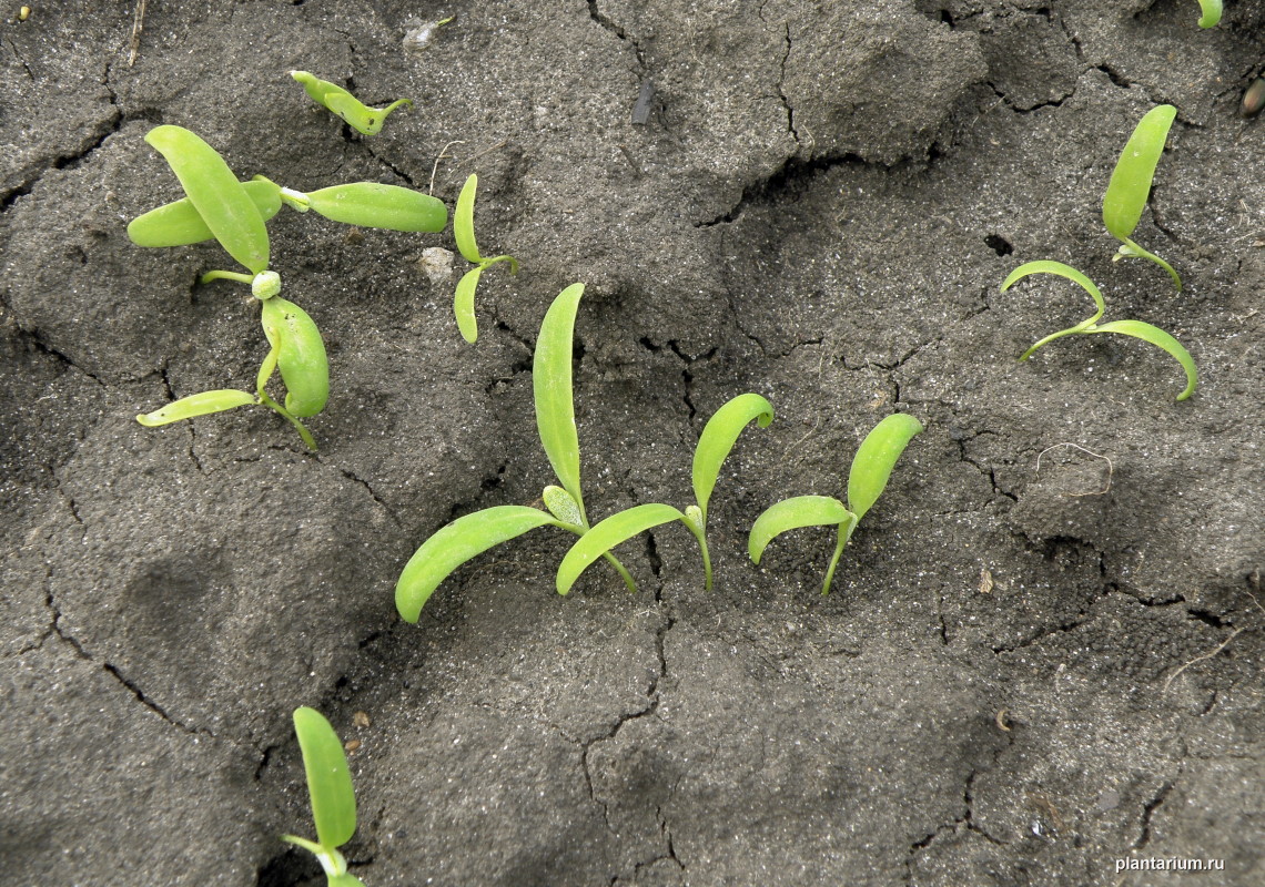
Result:
M583 283L573 283L549 306L536 337L531 360L531 387L536 402L536 430L563 489L584 513L579 489L579 435L572 402L571 355L576 331L576 311L584 294Z

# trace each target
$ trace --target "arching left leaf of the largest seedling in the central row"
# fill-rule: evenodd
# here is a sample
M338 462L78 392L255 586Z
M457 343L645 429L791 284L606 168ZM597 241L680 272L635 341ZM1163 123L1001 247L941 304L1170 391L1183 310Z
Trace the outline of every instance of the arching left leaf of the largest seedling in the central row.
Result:
M405 622L417 622L431 593L453 570L493 546L545 524L562 526L545 512L526 505L497 505L457 518L423 542L409 558L396 582L396 609Z

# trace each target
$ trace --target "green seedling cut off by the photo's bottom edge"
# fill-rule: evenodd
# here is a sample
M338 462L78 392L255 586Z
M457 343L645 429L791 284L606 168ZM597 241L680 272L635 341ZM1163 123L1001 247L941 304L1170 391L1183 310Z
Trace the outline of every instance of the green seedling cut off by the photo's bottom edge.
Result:
M296 835L281 835L281 840L310 850L325 869L329 887L364 887L348 874L347 859L338 849L355 833L355 790L343 743L325 716L306 706L295 709L295 734L304 756L316 840Z

